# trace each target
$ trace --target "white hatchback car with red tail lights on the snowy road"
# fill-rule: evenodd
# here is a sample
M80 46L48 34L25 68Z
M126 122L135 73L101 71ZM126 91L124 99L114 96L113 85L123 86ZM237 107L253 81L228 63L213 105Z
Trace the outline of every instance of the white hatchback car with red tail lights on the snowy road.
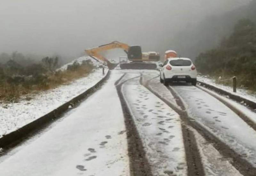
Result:
M188 58L168 58L160 64L160 82L167 85L174 81L186 81L196 85L197 71Z

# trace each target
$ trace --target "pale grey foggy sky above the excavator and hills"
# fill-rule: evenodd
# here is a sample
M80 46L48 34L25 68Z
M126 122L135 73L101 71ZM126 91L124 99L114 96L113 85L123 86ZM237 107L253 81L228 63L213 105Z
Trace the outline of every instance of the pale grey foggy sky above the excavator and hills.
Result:
M0 53L77 56L114 40L163 52L179 30L249 1L0 0Z

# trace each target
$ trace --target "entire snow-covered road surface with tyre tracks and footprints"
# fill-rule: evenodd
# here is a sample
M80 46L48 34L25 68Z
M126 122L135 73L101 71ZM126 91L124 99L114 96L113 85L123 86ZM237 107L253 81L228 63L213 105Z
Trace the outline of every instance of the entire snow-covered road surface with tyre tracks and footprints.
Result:
M255 130L207 92L158 76L111 71L62 120L0 157L0 175L255 176Z

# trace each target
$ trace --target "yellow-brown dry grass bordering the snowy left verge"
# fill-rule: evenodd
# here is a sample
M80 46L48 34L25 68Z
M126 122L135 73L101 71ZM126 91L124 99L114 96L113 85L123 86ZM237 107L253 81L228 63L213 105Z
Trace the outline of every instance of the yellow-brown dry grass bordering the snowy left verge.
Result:
M74 71L49 73L44 79L36 83L25 81L20 84L14 84L9 83L7 80L2 80L0 83L0 100L3 102L17 102L23 95L50 90L62 84L69 84L78 78L88 76L91 71L92 68L81 66Z

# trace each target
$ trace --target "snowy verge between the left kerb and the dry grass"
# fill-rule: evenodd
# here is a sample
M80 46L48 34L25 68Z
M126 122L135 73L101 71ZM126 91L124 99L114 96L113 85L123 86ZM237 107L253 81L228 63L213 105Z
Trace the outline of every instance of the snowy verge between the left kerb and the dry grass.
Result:
M96 69L87 77L77 79L70 84L31 95L31 100L21 100L18 103L9 104L2 103L0 106L0 138L2 135L15 131L72 100L94 86L104 76L106 74L102 75L101 69Z

